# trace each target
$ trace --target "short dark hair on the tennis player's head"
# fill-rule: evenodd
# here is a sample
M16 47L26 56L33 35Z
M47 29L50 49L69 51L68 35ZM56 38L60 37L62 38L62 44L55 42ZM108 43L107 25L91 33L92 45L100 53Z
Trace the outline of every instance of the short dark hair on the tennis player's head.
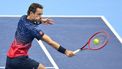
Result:
M43 9L43 6L38 3L32 3L28 8L27 15L30 15L30 12L35 13L37 8Z

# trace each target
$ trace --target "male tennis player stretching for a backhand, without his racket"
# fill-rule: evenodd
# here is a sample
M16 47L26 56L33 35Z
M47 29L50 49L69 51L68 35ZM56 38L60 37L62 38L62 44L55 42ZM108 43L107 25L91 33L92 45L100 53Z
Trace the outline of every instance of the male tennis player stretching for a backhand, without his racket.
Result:
M37 28L40 24L54 23L51 19L42 18L42 14L43 6L38 3L32 3L28 8L27 15L20 18L15 38L7 53L5 69L46 69L43 64L28 57L28 50L31 48L34 38L45 41L68 57L74 56L73 51L63 48L41 29Z

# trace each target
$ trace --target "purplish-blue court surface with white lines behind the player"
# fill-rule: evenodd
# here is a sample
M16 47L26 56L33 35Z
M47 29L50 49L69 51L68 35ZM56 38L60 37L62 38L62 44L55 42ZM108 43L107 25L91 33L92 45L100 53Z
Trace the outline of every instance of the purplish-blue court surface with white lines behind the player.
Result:
M0 69L4 69L6 53L20 17L0 17ZM59 53L43 41L33 41L29 50L31 58L44 64L47 69L121 69L122 40L103 16L53 16L54 25L39 28L53 40L69 50L84 45L95 32L105 30L110 34L106 47L97 51L84 50L74 57Z

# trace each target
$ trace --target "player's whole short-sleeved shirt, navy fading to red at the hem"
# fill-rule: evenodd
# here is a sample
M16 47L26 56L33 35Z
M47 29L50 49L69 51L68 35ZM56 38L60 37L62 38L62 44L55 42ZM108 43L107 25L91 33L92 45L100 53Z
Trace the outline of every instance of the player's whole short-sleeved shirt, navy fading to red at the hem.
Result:
M15 39L7 54L8 57L27 56L33 39L36 38L40 40L44 35L41 29L38 28L38 25L39 24L28 20L26 15L20 18L15 33Z

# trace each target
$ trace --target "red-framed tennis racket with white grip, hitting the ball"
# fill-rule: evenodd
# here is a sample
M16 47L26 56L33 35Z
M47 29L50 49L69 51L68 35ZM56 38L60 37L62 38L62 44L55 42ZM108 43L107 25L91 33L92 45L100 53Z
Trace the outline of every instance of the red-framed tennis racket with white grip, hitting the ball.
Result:
M99 39L99 44L94 44L94 39ZM82 50L99 50L108 44L109 34L106 31L100 31L94 33L81 48L75 50L73 53L76 54ZM88 47L86 47L88 46Z

